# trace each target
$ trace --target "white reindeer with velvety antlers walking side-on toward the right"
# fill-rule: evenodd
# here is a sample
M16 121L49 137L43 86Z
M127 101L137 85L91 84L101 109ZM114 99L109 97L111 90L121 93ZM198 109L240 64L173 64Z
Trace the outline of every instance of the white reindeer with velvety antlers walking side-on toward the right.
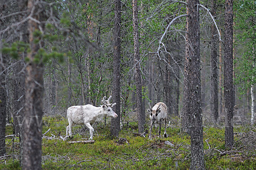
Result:
M72 135L73 124L85 124L85 126L90 130L89 140L93 140L93 125L96 121L101 120L102 117L105 116L117 118L117 114L111 108L115 106L116 103L110 104L109 101L111 98L112 96L109 96L108 100L105 100L106 96L104 96L102 100L103 105L100 107L95 107L91 104L69 107L67 109L68 126L66 130L66 136L67 132L70 136Z

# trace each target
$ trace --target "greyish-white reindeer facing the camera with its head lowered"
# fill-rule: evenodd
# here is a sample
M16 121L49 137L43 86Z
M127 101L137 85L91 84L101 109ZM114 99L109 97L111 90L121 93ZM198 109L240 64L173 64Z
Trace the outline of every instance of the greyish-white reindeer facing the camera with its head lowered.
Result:
M151 139L151 130L154 123L159 124L159 130L158 135L159 138L161 138L161 125L162 121L164 121L165 129L164 129L164 137L167 137L166 134L166 123L167 123L167 106L163 102L159 102L154 105L154 107L151 108L150 103L148 102L148 105L150 109L148 109L148 112L150 113L150 128L149 128L149 136L148 138Z

